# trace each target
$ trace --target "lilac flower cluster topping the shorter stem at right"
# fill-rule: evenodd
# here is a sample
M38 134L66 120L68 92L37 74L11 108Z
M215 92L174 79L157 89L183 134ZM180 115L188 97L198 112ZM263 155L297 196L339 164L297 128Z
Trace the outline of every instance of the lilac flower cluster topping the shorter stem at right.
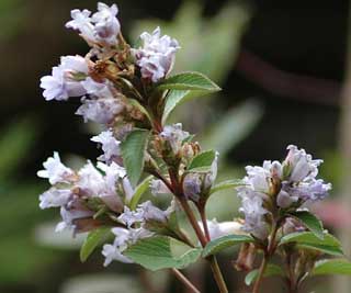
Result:
M247 177L237 188L245 214L244 229L258 238L269 233L270 216L276 209L297 210L308 202L322 200L330 183L316 179L321 160L315 160L304 149L288 146L283 162L264 161L262 167L246 167Z

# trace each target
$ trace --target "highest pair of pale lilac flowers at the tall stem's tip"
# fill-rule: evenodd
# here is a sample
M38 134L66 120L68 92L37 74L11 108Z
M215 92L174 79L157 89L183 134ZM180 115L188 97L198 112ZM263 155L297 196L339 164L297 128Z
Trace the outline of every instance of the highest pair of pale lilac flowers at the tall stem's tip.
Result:
M102 2L98 3L98 12L92 15L87 9L83 11L75 9L70 13L72 20L66 23L66 27L79 31L80 35L90 44L116 45L116 36L121 30L116 19L117 13L116 4L109 7Z

